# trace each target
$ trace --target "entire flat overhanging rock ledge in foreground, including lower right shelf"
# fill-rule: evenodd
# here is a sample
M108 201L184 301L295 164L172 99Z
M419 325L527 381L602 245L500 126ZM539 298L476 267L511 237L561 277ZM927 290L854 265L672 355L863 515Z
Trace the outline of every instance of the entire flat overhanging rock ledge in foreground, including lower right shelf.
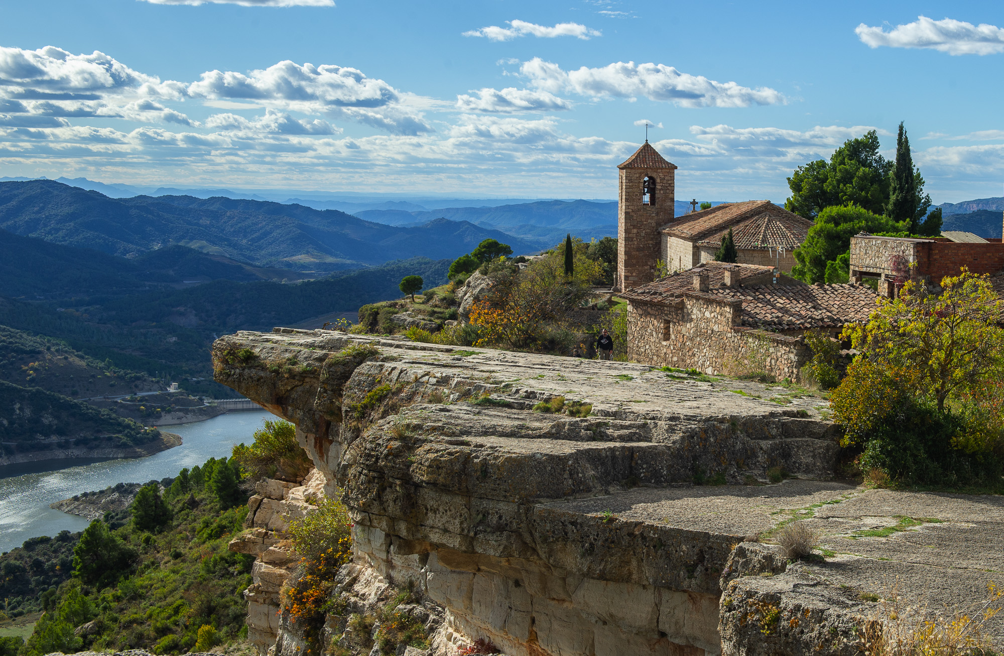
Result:
M783 387L286 328L213 357L216 380L296 424L355 522L354 566L444 609L451 639L430 655L476 639L513 656L856 654L890 600L902 625L1002 579L1001 498L836 480L826 403ZM761 544L793 520L820 536L809 561ZM280 636L269 653L305 649Z

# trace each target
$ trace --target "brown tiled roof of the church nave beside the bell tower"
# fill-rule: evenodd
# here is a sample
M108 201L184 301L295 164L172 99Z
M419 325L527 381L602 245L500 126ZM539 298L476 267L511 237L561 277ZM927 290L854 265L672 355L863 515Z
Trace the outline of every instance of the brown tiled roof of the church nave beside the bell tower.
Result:
M779 208L770 201L728 203L709 210L684 215L663 228L663 233L696 242L700 246L719 246L732 229L738 249L783 248L794 250L805 241L812 222Z

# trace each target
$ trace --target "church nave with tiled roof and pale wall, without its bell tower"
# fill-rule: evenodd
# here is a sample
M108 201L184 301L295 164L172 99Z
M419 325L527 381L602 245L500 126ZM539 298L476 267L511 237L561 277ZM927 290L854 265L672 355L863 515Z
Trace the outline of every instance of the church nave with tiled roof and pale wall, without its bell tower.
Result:
M684 215L662 229L661 258L669 271L685 271L715 260L732 230L740 264L776 267L789 272L793 251L805 241L812 222L770 201L726 203Z

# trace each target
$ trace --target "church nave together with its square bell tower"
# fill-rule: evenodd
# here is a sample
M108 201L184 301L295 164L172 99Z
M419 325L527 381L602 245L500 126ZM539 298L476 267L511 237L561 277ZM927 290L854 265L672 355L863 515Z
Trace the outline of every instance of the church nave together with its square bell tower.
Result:
M781 273L812 222L770 201L726 203L674 216L676 165L646 141L617 167L617 280L626 290L652 282L657 261L667 271L686 271L712 262L731 229L740 264L771 266Z

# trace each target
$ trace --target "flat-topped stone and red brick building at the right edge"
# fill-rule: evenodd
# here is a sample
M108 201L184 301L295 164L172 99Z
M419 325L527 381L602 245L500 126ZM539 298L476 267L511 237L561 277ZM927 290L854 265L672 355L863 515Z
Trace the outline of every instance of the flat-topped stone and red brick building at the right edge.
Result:
M904 239L860 233L850 238L850 279L877 278L878 293L895 297L911 278L938 285L945 276L958 276L962 267L986 274L1004 269L1001 240L977 239Z

